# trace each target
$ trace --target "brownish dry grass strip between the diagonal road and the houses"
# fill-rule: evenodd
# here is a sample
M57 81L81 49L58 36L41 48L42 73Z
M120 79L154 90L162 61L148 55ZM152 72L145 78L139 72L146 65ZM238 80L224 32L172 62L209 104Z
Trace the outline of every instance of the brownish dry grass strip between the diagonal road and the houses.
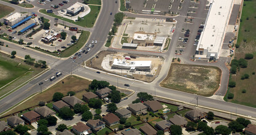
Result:
M62 83L64 82L64 83ZM91 82L89 80L82 79L77 76L69 76L60 82L56 83L52 87L43 91L42 93L33 96L33 98L28 99L28 101L24 102L20 106L15 107L13 110L8 112L7 114L12 114L14 112L18 112L19 110L26 109L28 107L36 106L39 104L39 101L50 101L52 100L52 96L56 92L63 93L64 96L67 95L68 91L75 91L77 98L82 98L82 95L86 93L85 88L88 88Z

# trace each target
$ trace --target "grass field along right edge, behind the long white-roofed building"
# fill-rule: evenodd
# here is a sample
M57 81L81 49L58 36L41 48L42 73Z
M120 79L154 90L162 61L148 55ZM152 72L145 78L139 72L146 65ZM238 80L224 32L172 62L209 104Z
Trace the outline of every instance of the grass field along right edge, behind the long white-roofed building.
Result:
M253 53L254 59L247 60L248 66L246 68L240 68L236 75L231 75L230 80L236 82L236 87L230 88L230 93L234 94L234 98L228 99L228 101L256 107L256 91L253 83L256 81L256 75L252 74L252 72L256 72L256 1L244 1L244 5L238 34L238 44L240 46L236 48L235 57L236 59L244 58L246 53ZM246 42L244 42L244 39L246 39ZM241 76L244 74L249 74L249 79L241 80ZM242 90L246 90L246 93L242 93Z

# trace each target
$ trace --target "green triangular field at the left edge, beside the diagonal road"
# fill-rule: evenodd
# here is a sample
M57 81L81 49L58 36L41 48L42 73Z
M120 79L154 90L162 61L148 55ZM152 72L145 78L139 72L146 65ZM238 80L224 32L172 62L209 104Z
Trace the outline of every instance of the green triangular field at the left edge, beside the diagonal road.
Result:
M29 66L19 58L12 59L9 55L0 53L0 97L42 71L44 69ZM12 82L13 80L15 81ZM6 85L7 83L10 84Z

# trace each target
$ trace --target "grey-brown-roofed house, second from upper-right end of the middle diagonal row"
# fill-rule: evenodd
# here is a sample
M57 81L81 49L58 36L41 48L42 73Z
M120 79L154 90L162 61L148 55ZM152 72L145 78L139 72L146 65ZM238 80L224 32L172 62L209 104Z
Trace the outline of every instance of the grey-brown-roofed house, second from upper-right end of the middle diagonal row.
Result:
M128 107L134 115L147 114L147 106L144 106L141 102L129 104Z

